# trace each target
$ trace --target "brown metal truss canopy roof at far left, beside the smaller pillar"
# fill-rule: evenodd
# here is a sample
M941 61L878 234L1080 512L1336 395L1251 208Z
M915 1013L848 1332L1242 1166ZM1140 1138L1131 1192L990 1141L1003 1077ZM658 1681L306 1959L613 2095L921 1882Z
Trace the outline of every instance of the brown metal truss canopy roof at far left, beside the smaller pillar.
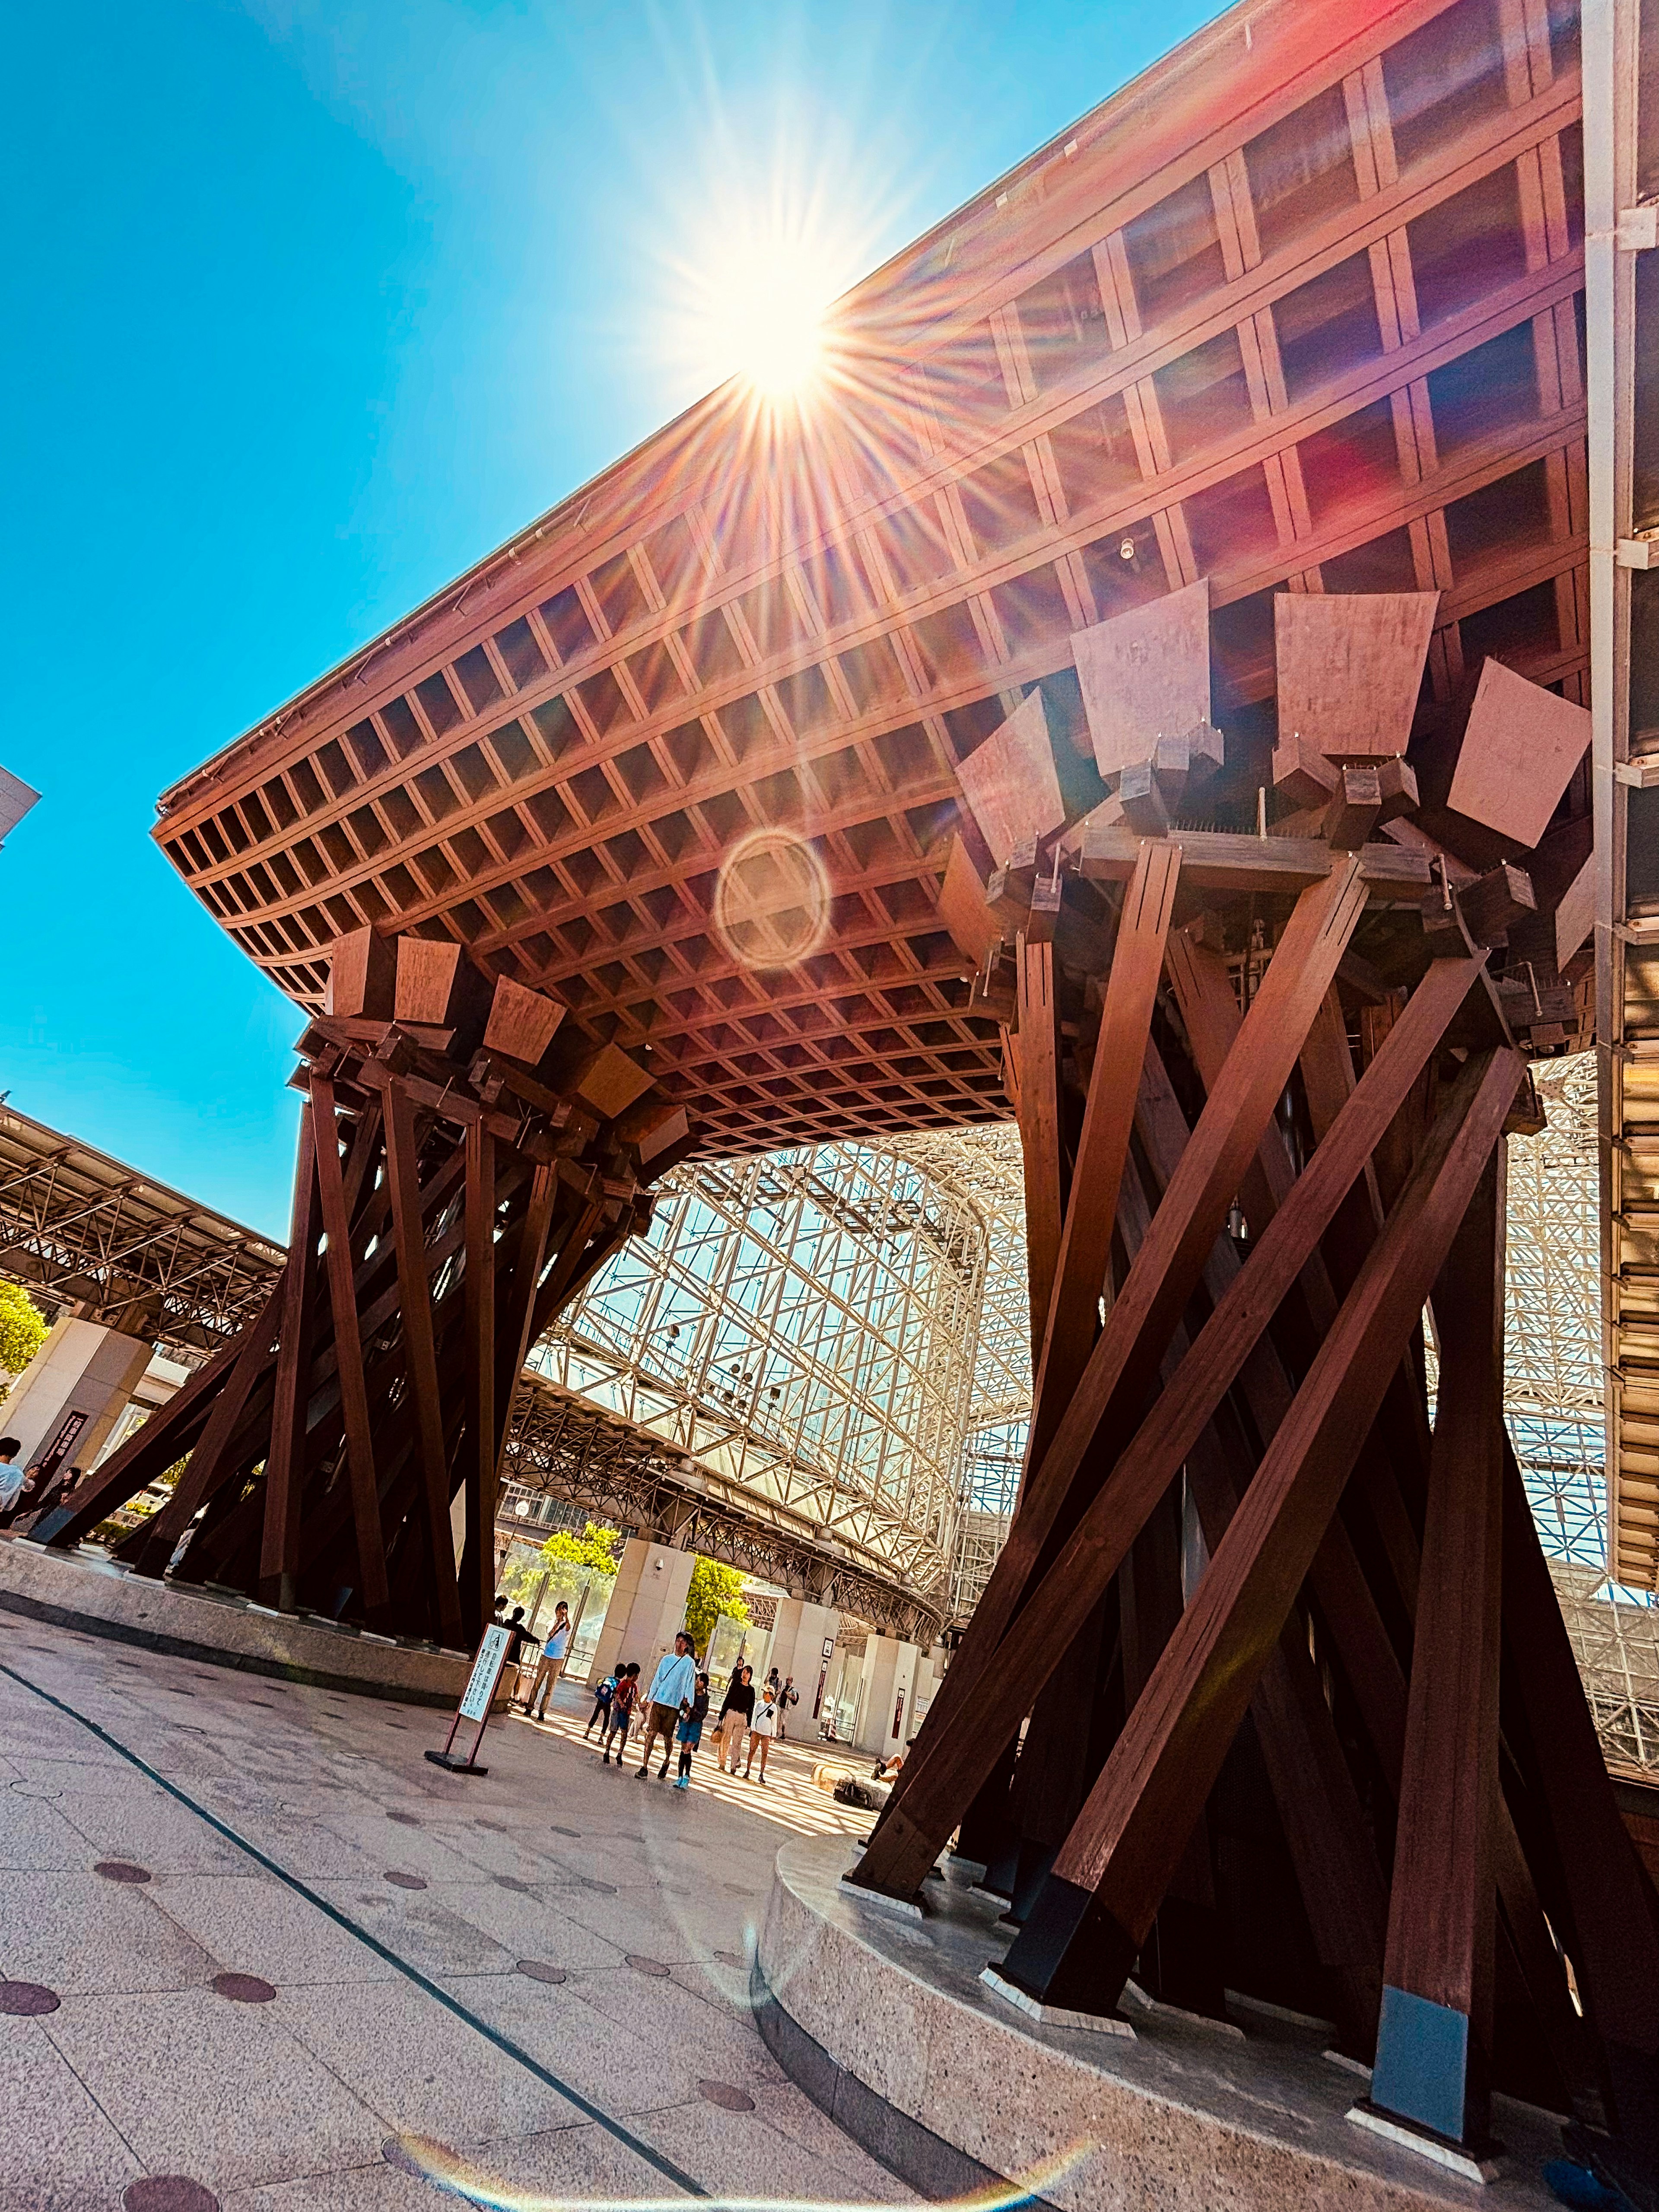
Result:
M285 1252L77 1137L0 1110L0 1274L195 1365L232 1343Z

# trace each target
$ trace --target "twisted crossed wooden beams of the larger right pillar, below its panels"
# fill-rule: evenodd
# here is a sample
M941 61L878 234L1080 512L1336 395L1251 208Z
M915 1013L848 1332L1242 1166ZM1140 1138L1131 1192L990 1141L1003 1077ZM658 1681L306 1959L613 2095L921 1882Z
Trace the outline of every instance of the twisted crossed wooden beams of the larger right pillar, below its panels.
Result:
M1020 1506L847 1880L925 1898L956 1834L1018 1927L987 1980L1037 2017L1254 1989L1374 2055L1389 2124L1478 2154L1513 2086L1650 2174L1659 1902L1502 1425L1524 1062L1489 956L1431 938L1356 1073L1363 856L1296 891L1245 1011L1181 880L1139 843L1093 1060L1018 940Z

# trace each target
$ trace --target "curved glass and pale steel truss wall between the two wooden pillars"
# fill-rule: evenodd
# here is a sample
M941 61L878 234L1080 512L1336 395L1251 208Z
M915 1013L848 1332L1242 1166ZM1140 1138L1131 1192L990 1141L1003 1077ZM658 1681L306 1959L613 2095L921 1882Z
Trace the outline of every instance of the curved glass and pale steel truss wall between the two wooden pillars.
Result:
M987 1141L681 1166L531 1369L940 1619L987 1279L1011 1243L995 1206L1018 1137Z

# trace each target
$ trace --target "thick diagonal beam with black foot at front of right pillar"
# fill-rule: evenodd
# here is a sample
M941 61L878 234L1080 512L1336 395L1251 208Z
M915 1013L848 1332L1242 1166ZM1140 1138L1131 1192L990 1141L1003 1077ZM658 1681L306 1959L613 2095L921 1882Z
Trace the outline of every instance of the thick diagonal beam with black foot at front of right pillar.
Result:
M1088 2011L1117 2002L1491 1157L1520 1073L1520 1055L1502 1051L1482 1053L1458 1077L1004 1960L1004 1978L1033 1997Z

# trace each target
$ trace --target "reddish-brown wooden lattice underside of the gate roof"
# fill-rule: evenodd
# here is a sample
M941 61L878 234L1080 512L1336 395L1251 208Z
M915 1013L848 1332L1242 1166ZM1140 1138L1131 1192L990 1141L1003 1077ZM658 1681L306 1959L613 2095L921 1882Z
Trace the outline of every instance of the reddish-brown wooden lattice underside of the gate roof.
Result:
M1068 812L1104 796L1075 630L1210 577L1223 827L1272 781L1276 591L1438 591L1425 726L1484 655L1586 697L1579 175L1573 0L1252 0L860 285L805 418L723 387L157 838L294 1000L363 922L462 938L706 1152L1000 1115L938 885L1033 686ZM770 827L823 867L792 967L776 856L714 916Z

